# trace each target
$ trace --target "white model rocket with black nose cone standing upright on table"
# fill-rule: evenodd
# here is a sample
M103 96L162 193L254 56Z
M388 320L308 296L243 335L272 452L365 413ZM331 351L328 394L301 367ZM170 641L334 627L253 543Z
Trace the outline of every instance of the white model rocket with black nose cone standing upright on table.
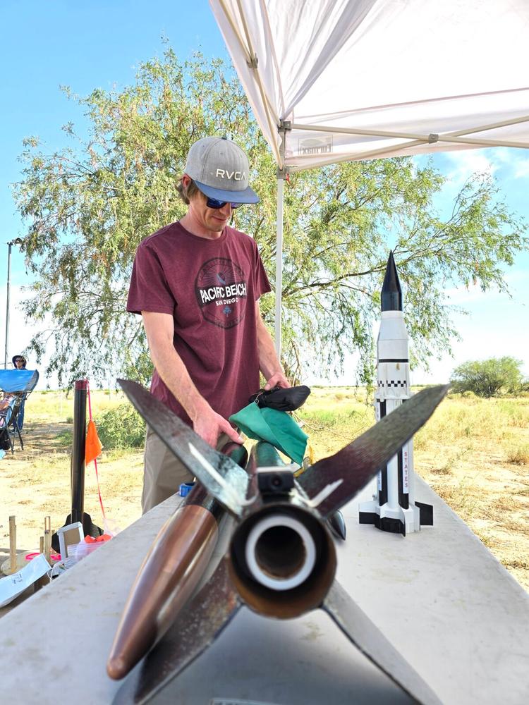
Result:
M402 290L393 252L382 284L382 320L377 339L377 422L411 397L408 332L402 313ZM379 470L377 491L359 506L360 524L403 534L433 525L433 507L415 501L413 439Z

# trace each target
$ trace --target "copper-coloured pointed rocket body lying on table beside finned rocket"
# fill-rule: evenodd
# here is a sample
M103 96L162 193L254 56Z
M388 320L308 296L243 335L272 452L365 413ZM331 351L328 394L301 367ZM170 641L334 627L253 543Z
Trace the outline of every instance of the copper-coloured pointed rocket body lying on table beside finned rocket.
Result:
M223 452L245 460L242 446ZM130 589L107 661L119 680L152 649L195 591L212 557L226 511L197 483L160 529Z

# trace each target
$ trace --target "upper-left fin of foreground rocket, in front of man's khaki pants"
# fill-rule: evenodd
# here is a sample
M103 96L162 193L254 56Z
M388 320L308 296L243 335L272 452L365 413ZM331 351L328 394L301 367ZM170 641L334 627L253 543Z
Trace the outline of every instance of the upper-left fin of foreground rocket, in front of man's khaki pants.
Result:
M171 453L232 514L241 515L248 489L248 474L231 458L217 453L195 431L137 382L118 379L130 402Z

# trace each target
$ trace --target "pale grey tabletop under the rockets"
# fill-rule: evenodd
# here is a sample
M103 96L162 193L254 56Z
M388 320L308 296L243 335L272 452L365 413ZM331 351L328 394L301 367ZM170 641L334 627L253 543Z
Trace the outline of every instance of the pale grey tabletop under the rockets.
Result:
M444 704L529 702L529 595L420 478L434 526L387 534L344 508L337 579ZM138 568L180 500L154 508L1 620L6 702L105 705L105 664ZM406 703L322 611L270 620L242 608L154 702Z

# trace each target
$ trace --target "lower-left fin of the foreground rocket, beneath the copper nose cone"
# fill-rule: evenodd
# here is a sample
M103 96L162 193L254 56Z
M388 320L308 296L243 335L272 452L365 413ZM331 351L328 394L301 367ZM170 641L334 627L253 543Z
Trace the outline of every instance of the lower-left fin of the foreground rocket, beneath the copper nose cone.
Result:
M126 678L114 705L142 704L176 678L220 635L241 608L225 557L166 635Z

